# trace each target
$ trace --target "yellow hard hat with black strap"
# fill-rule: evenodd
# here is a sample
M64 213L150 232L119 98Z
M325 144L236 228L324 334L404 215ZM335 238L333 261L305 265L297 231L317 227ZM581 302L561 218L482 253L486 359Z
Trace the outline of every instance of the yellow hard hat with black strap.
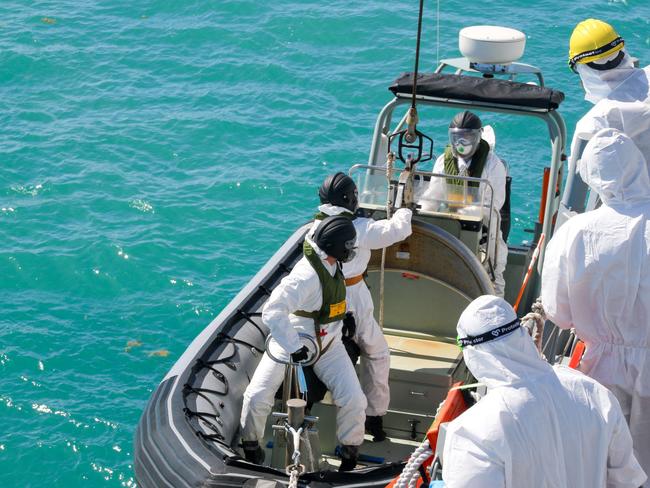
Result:
M573 29L569 41L569 66L575 71L576 64L587 64L603 59L616 51L623 49L625 42L614 28L607 22L598 19L587 19ZM610 69L618 66L620 59L616 58L613 66L603 66Z

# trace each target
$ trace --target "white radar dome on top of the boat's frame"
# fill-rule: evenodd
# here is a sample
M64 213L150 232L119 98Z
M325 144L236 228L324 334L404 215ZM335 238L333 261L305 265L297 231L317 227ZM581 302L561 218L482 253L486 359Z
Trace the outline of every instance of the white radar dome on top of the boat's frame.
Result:
M496 25L474 25L461 29L458 48L473 63L509 64L524 54L526 35Z

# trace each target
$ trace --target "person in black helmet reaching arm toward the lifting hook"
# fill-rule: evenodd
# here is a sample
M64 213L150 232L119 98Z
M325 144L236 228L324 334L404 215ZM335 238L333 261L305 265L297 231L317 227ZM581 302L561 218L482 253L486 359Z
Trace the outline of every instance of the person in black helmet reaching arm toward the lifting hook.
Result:
M318 207L313 230L321 219L330 215L344 215L352 219L357 231L356 255L343 263L348 312L354 318L354 330L350 334L361 352L361 387L368 400L366 431L376 442L383 441L383 416L388 411L390 391L390 351L382 330L374 317L374 306L363 273L368 267L372 249L382 249L411 235L412 212L400 208L389 220L374 220L355 216L359 208L357 186L344 173L325 178L319 191L321 205Z

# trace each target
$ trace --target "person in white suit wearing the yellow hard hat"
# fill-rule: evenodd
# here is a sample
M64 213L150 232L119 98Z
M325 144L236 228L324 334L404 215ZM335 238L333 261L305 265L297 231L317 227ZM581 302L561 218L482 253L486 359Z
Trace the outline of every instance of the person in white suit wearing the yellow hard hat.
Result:
M631 137L650 164L650 66L635 68L624 47L623 38L601 20L584 20L573 30L569 65L594 106L576 125L572 160L596 132L612 127Z

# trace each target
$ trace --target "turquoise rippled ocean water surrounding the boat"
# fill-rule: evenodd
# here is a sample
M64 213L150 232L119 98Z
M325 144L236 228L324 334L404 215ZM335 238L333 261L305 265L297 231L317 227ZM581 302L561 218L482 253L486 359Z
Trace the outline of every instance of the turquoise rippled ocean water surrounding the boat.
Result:
M588 109L566 68L579 20L650 62L647 0L427 1L422 63L462 26L528 35L522 61ZM0 486L134 486L132 438L194 336L365 162L412 70L416 1L0 2ZM451 112L423 118L445 141ZM539 122L488 117L514 230L537 212ZM539 125L535 125L539 124Z

